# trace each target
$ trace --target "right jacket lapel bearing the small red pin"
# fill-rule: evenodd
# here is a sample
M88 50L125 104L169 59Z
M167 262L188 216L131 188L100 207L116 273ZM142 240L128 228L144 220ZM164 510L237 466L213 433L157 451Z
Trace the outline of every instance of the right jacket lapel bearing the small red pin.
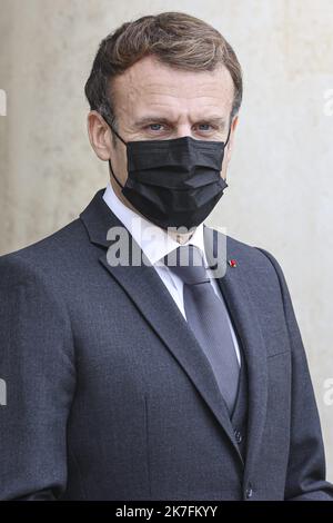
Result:
M205 250L210 264L216 259L216 230L204 226ZM213 237L213 248L212 248ZM211 258L213 254L213 258ZM236 243L226 237L226 256L236 260L236 267L226 264L225 275L218 278L222 295L225 299L230 317L241 341L243 354L248 366L249 379L249 422L248 422L248 452L245 475L251 473L252 466L260 452L261 438L266 416L268 403L268 365L266 349L261 326L249 293L248 279L251 273L246 272L246 259L236 248ZM211 258L211 259L210 259ZM223 260L222 260L223 263Z

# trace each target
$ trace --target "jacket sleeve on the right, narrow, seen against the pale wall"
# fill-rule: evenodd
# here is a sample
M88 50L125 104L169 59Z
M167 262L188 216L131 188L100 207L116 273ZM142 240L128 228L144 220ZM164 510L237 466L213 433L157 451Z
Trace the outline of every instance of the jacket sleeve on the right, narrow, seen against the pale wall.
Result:
M260 249L278 274L292 351L291 434L285 500L333 501L333 486L325 481L325 456L319 412L301 333L290 293L276 259Z

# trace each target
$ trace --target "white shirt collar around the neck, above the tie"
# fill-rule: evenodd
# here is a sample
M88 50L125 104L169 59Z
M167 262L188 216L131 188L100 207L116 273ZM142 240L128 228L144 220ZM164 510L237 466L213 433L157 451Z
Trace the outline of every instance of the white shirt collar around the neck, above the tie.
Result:
M103 200L122 221L152 265L161 265L159 260L180 247L180 244L164 229L127 207L115 195L110 181L104 190ZM199 247L205 266L208 265L204 253L203 223L195 228L189 241L182 245Z

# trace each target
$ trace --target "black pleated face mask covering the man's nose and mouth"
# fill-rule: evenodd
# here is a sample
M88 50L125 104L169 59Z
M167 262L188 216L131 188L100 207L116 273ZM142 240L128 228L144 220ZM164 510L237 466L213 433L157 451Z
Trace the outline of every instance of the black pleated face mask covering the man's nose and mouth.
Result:
M125 142L110 127L127 146L125 185L120 184L109 160L111 172L139 213L163 229L190 229L209 216L228 187L220 171L231 127L225 142L190 136Z

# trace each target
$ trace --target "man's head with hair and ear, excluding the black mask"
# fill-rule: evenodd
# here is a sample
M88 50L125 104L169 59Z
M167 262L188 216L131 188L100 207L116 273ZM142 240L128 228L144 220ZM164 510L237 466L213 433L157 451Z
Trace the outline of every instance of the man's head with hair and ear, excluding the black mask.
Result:
M225 141L221 176L226 177L242 100L240 63L221 33L198 18L163 12L123 23L102 40L85 85L91 145L111 158L124 185L128 142L191 136ZM132 207L113 178L122 201Z

